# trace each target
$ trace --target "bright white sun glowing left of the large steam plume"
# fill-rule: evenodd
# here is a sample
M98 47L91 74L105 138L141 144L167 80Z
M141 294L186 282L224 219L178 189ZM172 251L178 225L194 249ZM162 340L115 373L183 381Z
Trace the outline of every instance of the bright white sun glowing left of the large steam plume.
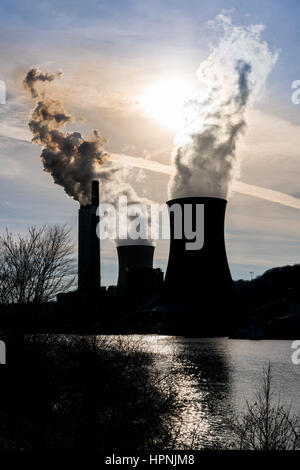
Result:
M160 124L172 130L180 128L185 101L195 93L184 78L168 78L154 83L140 98L144 110Z

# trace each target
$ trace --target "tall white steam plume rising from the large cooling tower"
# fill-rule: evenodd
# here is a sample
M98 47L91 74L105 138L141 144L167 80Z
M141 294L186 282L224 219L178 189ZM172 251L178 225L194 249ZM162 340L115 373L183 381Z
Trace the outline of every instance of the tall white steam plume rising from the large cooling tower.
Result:
M262 95L277 60L260 38L263 26L236 27L224 15L211 24L222 28L223 39L200 64L201 92L184 105L172 155L171 198L227 199L239 169L236 146L247 108Z

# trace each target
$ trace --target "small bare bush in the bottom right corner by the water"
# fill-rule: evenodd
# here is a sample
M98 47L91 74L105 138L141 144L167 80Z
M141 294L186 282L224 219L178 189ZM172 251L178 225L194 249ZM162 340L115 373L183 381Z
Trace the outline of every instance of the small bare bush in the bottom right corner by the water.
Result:
M291 414L291 406L274 398L270 364L263 368L255 402L246 400L246 412L232 426L239 449L295 450L300 448L300 420Z

